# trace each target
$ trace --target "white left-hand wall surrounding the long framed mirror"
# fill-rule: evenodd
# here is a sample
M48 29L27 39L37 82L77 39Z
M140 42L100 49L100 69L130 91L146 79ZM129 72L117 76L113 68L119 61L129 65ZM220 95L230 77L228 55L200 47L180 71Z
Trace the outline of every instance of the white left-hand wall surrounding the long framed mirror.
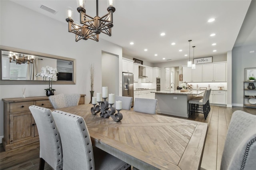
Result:
M119 79L122 80L122 47L102 39L75 42L75 35L68 32L68 23L11 1L0 2L0 45L76 59L76 84L53 85L53 88L55 94L86 94L86 103L90 101L90 63L95 66L94 93L102 90L102 51L119 56ZM26 87L26 97L45 96L47 85L0 85L0 99L22 97L22 87ZM121 88L119 93L122 94ZM0 136L4 135L3 112L1 100Z

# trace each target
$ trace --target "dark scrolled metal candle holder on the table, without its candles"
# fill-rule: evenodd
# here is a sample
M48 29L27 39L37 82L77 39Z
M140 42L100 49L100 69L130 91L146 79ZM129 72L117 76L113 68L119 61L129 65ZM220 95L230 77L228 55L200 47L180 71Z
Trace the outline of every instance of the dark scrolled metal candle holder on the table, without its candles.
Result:
M122 113L120 113L120 110L117 110L116 113L116 108L112 107L114 103L108 103L106 101L107 98L103 98L104 101L97 101L97 104L92 104L93 107L91 108L91 113L92 115L96 115L97 113L100 113L100 117L108 118L111 117L114 121L119 122L123 119ZM110 105L110 107L109 107Z

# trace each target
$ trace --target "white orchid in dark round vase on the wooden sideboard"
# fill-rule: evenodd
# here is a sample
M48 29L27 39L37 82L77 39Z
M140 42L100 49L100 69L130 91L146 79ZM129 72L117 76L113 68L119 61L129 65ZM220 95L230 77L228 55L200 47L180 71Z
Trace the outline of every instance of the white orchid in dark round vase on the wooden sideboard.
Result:
M46 91L46 95L54 95L55 89L52 89L52 81L57 81L57 69L52 68L50 66L42 67L41 73L37 73L36 77L43 77L44 80L49 79L49 88L44 89Z

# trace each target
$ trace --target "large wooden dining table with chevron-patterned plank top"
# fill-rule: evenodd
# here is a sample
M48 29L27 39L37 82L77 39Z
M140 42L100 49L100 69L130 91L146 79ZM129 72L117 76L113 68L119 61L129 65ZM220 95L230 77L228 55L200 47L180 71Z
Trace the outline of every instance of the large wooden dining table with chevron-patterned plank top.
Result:
M92 115L92 106L57 110L83 117L93 145L140 170L200 169L207 123L127 110L115 122Z

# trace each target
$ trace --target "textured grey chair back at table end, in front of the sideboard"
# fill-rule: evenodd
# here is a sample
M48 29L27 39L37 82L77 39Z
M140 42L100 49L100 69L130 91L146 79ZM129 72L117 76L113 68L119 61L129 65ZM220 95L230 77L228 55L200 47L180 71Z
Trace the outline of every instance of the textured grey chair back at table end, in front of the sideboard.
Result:
M54 109L77 106L80 99L80 94L59 94L49 96Z

